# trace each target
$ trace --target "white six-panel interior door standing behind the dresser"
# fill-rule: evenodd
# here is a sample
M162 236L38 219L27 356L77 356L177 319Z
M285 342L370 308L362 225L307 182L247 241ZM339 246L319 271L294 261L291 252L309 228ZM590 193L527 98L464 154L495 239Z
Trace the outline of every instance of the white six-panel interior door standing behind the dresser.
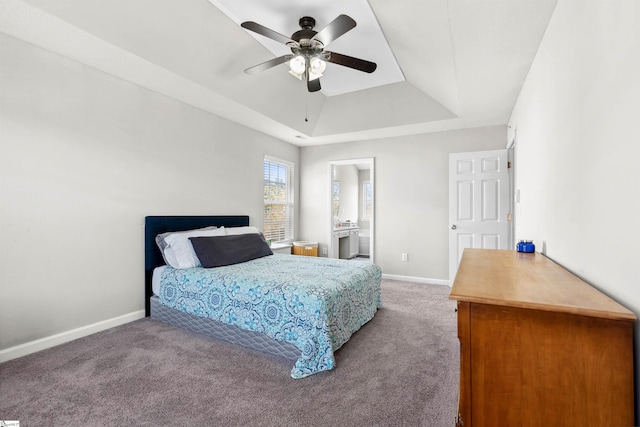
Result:
M465 248L509 247L507 150L449 155L449 282Z

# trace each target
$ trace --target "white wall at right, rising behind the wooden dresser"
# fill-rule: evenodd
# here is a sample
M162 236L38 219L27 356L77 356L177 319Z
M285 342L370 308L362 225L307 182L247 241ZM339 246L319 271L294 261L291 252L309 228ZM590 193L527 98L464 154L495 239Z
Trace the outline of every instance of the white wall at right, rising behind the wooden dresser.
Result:
M640 2L560 0L520 94L517 239L640 315ZM635 329L636 370L640 335ZM640 383L636 373L636 408Z

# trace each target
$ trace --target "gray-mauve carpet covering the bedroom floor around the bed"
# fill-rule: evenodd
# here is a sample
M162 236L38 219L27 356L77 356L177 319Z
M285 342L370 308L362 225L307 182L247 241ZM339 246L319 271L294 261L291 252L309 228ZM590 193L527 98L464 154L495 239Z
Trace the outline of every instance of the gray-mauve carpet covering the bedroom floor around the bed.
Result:
M454 424L459 347L449 287L383 280L384 307L336 352L292 362L149 318L0 364L0 419L31 426Z

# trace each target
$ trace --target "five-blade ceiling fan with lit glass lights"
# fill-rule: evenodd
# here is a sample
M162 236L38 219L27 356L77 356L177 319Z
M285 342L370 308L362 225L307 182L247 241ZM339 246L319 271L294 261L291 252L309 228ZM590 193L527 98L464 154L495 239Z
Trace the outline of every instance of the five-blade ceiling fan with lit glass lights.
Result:
M254 33L268 37L291 48L291 54L271 59L253 67L247 68L245 73L257 74L285 62L289 63L289 73L302 80L306 80L309 92L321 89L320 77L327 67L327 62L353 68L354 70L373 73L376 63L354 58L336 52L324 50L324 48L338 37L350 31L356 26L356 21L347 15L340 15L320 31L313 27L316 20L310 16L303 16L298 22L300 30L287 37L253 21L240 24Z

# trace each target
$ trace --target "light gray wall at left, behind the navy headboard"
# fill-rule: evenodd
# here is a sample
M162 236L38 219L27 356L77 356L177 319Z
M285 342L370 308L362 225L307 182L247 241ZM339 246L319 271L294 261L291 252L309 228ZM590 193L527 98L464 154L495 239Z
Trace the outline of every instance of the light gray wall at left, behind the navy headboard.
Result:
M1 34L0 85L0 350L142 310L145 215L261 227L263 156L298 163L293 145Z

